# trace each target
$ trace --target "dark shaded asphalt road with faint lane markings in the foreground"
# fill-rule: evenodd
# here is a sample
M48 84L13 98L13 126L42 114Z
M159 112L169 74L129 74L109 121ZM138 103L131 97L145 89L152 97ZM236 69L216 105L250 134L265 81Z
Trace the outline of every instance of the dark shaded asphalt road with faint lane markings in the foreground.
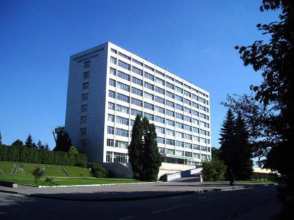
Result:
M135 201L62 201L0 193L1 219L270 219L275 186ZM269 204L272 202L272 208ZM276 210L273 210L276 209ZM248 216L249 214L249 216Z

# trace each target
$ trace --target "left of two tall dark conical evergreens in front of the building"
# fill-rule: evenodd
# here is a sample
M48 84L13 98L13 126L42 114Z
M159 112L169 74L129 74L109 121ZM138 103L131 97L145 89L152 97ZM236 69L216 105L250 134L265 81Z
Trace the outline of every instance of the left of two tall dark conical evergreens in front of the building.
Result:
M132 140L128 148L129 160L131 162L134 179L141 178L143 170L142 151L143 151L143 123L141 116L137 115L132 128Z

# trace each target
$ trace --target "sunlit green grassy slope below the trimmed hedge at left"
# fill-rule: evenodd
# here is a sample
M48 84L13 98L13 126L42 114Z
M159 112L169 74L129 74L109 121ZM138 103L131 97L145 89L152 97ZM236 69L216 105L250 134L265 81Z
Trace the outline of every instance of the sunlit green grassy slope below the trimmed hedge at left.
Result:
M37 184L34 183L34 176L32 174L36 166L45 167L45 176L41 177ZM45 182L45 179L47 177L53 179L52 184ZM133 179L89 178L88 168L50 164L21 163L11 161L0 161L0 180L14 181L19 184L38 186L71 186L139 182Z

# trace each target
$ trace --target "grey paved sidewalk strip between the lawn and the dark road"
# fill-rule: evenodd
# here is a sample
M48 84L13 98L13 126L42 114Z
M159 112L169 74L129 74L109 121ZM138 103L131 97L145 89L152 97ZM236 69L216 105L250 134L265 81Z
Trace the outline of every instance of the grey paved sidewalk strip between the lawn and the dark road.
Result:
M116 184L102 186L47 188L37 188L25 185L18 185L18 188L0 186L0 192L73 201L125 201L229 189L252 188L267 185L274 185L274 183L241 183L230 187L229 183L197 183L182 178L179 181L173 182Z

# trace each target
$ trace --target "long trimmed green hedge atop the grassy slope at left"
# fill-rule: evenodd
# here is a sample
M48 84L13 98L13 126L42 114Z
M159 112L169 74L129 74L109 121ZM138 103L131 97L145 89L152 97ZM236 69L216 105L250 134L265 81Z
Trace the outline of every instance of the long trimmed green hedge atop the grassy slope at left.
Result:
M86 166L87 155L0 145L0 160L82 167Z

